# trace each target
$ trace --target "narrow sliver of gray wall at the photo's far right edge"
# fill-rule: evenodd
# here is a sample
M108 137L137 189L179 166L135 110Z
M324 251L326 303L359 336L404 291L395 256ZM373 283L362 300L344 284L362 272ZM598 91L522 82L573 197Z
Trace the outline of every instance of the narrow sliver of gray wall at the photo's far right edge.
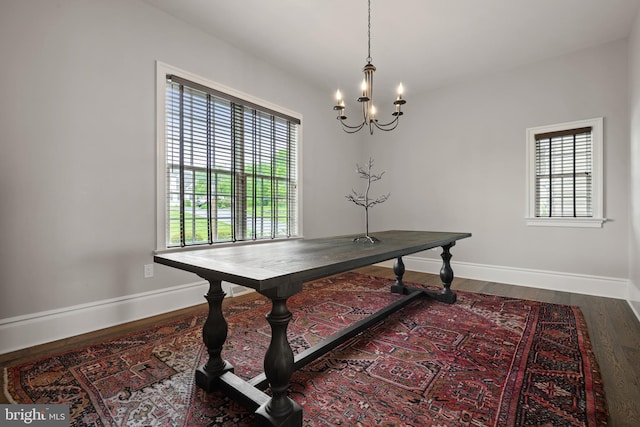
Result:
M629 299L640 317L640 12L629 36Z

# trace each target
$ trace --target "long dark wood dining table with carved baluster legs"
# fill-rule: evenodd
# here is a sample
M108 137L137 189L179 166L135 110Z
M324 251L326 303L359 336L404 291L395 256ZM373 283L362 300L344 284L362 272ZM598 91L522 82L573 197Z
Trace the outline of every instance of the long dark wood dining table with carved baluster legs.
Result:
M208 361L196 370L196 384L212 391L220 389L232 399L255 410L256 425L300 426L302 408L287 394L293 372L331 351L390 314L419 297L431 297L453 304L451 289L453 270L450 249L456 241L471 233L393 230L371 233L375 240L358 239L359 235L316 239L273 240L265 243L208 246L195 250L163 252L154 261L197 274L209 282L205 298L209 313L203 326L203 341ZM402 257L425 250L442 248L441 291L428 291L404 284ZM405 295L322 343L294 355L287 339L291 313L287 299L302 291L303 283L394 259L396 281L390 292ZM255 289L271 300L267 321L271 325L271 342L264 358L264 373L244 380L233 373L233 366L222 357L228 326L222 313L225 292L222 282ZM271 396L264 392L271 389Z

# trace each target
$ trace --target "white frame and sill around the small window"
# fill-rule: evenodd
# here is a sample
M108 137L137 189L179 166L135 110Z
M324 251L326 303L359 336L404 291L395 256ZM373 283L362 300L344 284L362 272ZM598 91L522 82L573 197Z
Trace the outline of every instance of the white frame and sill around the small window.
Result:
M528 128L526 131L528 226L600 228L606 221L603 197L603 122L602 117ZM591 127L591 217L536 217L536 135Z

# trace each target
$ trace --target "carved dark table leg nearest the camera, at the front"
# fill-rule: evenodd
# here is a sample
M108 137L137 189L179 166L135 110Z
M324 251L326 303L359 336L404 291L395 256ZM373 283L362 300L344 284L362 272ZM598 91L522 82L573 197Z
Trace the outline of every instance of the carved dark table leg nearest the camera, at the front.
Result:
M271 343L264 357L264 373L269 380L272 397L255 412L258 426L301 426L302 408L287 396L293 375L293 351L287 340L291 313L287 298L272 297L267 321L271 325Z

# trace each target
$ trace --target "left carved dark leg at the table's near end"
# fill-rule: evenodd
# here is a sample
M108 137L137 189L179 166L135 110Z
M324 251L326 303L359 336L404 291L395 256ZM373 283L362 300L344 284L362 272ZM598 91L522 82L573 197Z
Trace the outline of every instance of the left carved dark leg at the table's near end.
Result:
M209 315L202 327L202 340L207 347L209 360L196 369L196 384L211 392L218 377L233 371L233 366L221 357L222 346L227 339L227 321L222 314L222 300L226 294L220 280L209 280L209 292L205 295L209 303Z

